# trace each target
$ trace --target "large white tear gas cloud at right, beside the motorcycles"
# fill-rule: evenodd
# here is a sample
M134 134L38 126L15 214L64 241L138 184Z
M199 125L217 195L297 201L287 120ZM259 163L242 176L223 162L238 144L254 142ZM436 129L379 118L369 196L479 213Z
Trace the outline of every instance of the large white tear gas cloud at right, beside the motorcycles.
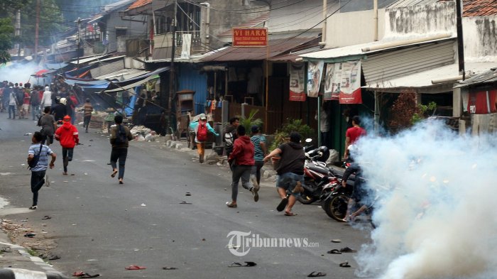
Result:
M355 158L378 199L357 275L496 278L495 144L495 136L459 136L438 121L361 138Z

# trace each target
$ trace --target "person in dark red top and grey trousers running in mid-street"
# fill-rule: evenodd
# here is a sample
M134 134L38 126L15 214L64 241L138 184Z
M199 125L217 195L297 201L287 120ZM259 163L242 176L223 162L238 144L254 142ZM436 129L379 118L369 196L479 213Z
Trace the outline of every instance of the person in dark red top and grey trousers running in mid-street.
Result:
M241 185L250 190L253 195L253 200L259 200L258 185L253 186L250 182L250 173L253 160L253 143L249 136L245 135L245 127L239 125L236 127L238 138L233 143L233 152L229 154L228 163L233 166L231 173L231 202L226 202L226 205L231 208L236 208L236 197L238 196L238 182L241 178Z

